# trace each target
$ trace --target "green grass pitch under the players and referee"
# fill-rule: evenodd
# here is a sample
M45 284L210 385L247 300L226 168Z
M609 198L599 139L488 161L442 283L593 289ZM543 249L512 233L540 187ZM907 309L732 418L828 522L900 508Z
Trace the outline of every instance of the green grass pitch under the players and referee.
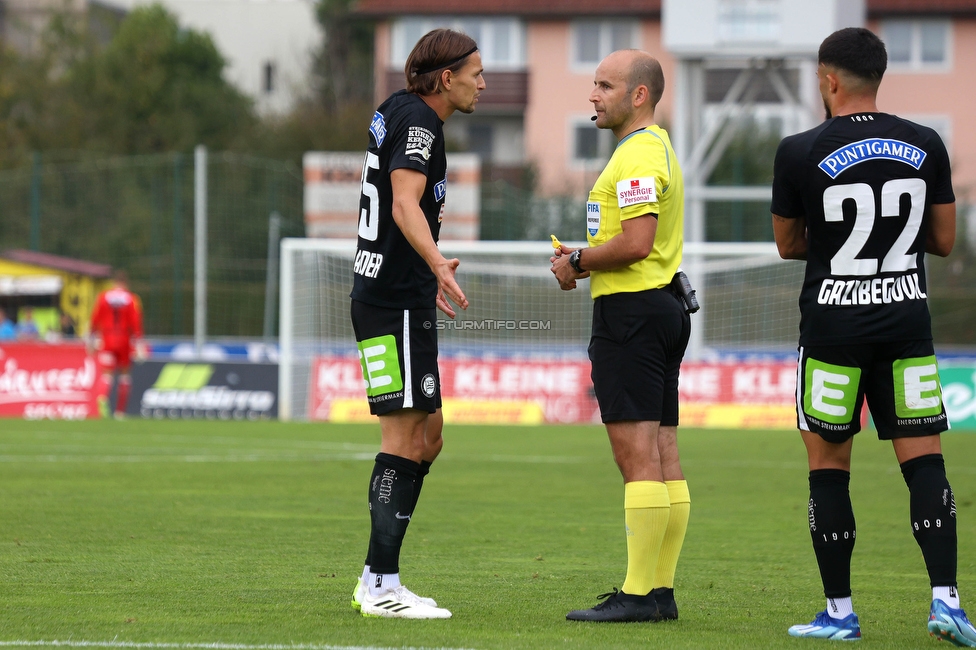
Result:
M827 643L786 634L823 608L796 432L679 432L693 502L681 618L658 625L564 619L624 578L623 488L601 427L449 426L445 439L401 575L454 618L402 621L349 607L376 425L0 421L0 648ZM976 435L943 445L976 614ZM890 444L862 433L854 464L860 646L940 647Z

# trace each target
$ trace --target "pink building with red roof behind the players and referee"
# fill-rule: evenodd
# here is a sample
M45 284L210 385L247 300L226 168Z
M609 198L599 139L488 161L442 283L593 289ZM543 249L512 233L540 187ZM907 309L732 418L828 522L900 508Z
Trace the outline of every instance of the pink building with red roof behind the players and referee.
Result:
M406 53L427 29L452 26L478 40L488 88L475 114L451 118L448 137L493 167L529 166L540 194L585 196L612 151L612 134L592 125L587 100L610 51L636 47L658 57L671 85L657 119L673 123L676 62L662 43L660 0L359 0L356 7L377 21L377 101L403 87ZM867 26L891 58L879 106L942 134L965 210L976 203L976 0L867 0L867 9ZM816 92L809 69L795 83Z

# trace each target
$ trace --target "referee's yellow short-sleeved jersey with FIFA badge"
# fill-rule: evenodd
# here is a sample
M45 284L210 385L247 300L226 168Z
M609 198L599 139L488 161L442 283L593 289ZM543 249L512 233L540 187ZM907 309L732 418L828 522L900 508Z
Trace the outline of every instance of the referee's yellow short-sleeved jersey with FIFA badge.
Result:
M657 215L654 247L646 258L612 271L590 272L590 294L657 289L671 283L684 245L684 182L668 132L655 125L617 143L586 202L590 246L623 232L621 221Z

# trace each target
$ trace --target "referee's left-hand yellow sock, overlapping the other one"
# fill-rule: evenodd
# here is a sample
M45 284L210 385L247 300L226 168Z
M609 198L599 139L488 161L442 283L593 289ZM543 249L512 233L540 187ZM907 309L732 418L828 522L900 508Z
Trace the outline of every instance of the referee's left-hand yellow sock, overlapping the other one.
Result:
M664 483L633 481L624 484L624 521L627 524L624 593L643 596L654 587L669 511L668 488Z

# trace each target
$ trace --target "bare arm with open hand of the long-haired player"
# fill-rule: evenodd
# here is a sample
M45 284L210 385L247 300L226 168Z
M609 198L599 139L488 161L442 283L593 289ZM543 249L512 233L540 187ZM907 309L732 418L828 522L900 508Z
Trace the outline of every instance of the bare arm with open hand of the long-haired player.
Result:
M468 299L464 297L464 292L454 279L454 271L460 261L449 260L441 255L430 234L424 212L420 209L420 199L427 186L427 177L413 169L395 169L390 174L390 183L393 187L393 220L410 245L420 253L430 270L434 272L438 293L443 292L443 295L453 300L461 309L467 309ZM437 301L437 306L444 311L441 301ZM444 313L453 318L453 311L452 309Z

